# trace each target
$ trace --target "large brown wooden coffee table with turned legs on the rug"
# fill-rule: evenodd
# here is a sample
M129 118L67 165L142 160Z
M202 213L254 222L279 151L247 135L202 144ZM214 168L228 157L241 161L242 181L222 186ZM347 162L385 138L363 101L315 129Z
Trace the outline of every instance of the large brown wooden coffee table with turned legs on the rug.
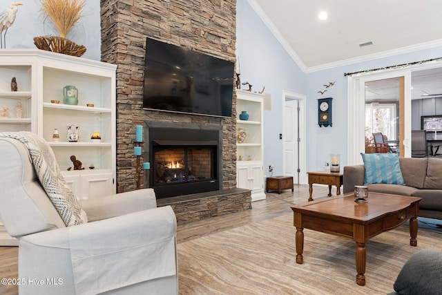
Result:
M389 231L410 219L410 245L417 245L417 216L421 198L370 193L368 203L354 202L354 193L292 206L296 227L296 263L304 258L303 229L313 229L356 242L356 283L365 285L367 252L365 244L383 231Z

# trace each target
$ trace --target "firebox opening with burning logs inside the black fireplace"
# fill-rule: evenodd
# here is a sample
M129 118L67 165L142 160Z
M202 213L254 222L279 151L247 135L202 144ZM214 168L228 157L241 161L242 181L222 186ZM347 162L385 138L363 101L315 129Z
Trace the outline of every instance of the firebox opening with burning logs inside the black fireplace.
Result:
M153 186L215 178L214 146L155 146Z

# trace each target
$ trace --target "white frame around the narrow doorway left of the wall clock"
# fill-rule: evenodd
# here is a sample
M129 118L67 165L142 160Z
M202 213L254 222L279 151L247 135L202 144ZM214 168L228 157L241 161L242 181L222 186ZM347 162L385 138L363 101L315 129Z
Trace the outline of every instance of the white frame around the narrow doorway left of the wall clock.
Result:
M299 128L299 161L298 166L300 169L299 173L299 184L308 184L307 182L307 108L306 101L307 96L300 93L295 93L291 91L282 91L282 171L285 171L286 159L284 153L284 142L283 138L287 134L285 130L285 102L287 100L298 100L300 111L298 112L298 128Z

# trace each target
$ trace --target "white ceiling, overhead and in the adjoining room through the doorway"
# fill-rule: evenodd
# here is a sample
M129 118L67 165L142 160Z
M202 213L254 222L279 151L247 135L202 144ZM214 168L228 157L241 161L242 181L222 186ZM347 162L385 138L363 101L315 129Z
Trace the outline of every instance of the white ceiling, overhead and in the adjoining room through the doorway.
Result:
M441 0L248 1L306 72L442 46ZM391 96L394 83L373 84L372 95ZM414 73L412 84L412 99L442 96L442 68Z

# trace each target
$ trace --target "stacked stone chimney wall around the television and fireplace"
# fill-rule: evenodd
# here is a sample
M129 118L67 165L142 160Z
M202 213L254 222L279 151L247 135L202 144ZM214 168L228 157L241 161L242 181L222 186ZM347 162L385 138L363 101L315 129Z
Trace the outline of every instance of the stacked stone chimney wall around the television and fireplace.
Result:
M146 37L236 61L236 0L101 1L102 61L117 64L117 192L133 191L135 126L144 121L222 125L222 188L236 187L236 95L232 117L148 111Z

